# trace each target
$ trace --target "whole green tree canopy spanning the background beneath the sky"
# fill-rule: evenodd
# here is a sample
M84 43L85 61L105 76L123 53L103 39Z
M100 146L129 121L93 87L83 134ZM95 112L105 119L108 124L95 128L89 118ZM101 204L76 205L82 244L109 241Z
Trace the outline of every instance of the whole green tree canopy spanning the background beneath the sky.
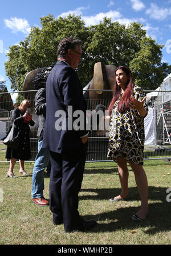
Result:
M26 74L39 67L47 67L57 60L57 46L64 37L83 41L83 59L78 75L83 86L93 77L96 62L105 65L127 65L132 70L136 85L146 90L160 86L171 72L171 66L161 61L162 45L146 37L143 25L137 22L127 27L104 18L99 25L86 27L80 16L40 18L42 28L31 27L25 41L10 47L5 63L6 75L12 90L22 90Z

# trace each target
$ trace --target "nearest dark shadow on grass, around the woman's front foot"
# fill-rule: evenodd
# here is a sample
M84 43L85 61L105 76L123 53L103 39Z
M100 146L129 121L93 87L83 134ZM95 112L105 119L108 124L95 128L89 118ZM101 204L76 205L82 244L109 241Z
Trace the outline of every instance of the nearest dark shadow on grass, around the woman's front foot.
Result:
M99 223L91 232L113 232L117 230L136 230L143 228L145 234L153 235L162 231L170 231L170 208L169 203L150 203L149 216L141 222L132 221L131 217L139 207L125 207L107 213L86 216L85 219L96 219L96 221L110 221ZM115 240L115 237L113 237ZM137 241L139 242L139 241Z

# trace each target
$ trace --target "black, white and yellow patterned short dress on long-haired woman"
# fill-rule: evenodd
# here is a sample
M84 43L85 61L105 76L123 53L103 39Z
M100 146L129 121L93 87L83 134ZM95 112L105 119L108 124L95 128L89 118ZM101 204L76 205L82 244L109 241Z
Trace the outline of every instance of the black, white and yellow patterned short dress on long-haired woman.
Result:
M142 101L144 98L143 89L135 86L133 97ZM121 95L115 102L111 114L108 158L116 162L117 157L124 157L127 161L143 165L145 117L141 117L139 111L132 108L120 113L117 110L120 99ZM148 111L146 103L144 103L144 108Z

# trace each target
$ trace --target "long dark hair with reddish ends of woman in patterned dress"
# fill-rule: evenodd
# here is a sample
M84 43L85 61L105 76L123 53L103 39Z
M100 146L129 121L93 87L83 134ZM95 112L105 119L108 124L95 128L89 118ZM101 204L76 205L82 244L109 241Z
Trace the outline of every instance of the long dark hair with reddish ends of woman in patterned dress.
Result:
M119 69L123 70L129 77L127 85L126 85L125 93L124 93L123 97L121 98L119 105L118 105L118 110L120 112L124 112L129 109L129 103L130 103L130 98L131 98L131 95L133 92L134 83L133 83L132 73L131 73L131 70L129 69L129 67L119 66L119 67L117 67L116 71ZM111 104L108 107L110 115L112 113L112 109L113 109L115 102L117 101L117 99L119 99L120 94L121 94L121 87L117 85L117 82L115 80L113 98L112 98Z

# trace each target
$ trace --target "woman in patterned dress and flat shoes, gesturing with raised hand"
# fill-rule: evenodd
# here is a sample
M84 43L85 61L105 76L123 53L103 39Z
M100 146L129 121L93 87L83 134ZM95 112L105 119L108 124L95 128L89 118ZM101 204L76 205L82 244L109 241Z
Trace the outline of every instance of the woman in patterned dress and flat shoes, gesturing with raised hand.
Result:
M110 201L128 199L128 167L131 166L141 198L141 208L132 216L141 221L148 214L148 182L143 169L144 118L148 113L143 90L133 83L127 66L116 69L113 98L109 105L111 115L108 157L117 162L121 194Z

